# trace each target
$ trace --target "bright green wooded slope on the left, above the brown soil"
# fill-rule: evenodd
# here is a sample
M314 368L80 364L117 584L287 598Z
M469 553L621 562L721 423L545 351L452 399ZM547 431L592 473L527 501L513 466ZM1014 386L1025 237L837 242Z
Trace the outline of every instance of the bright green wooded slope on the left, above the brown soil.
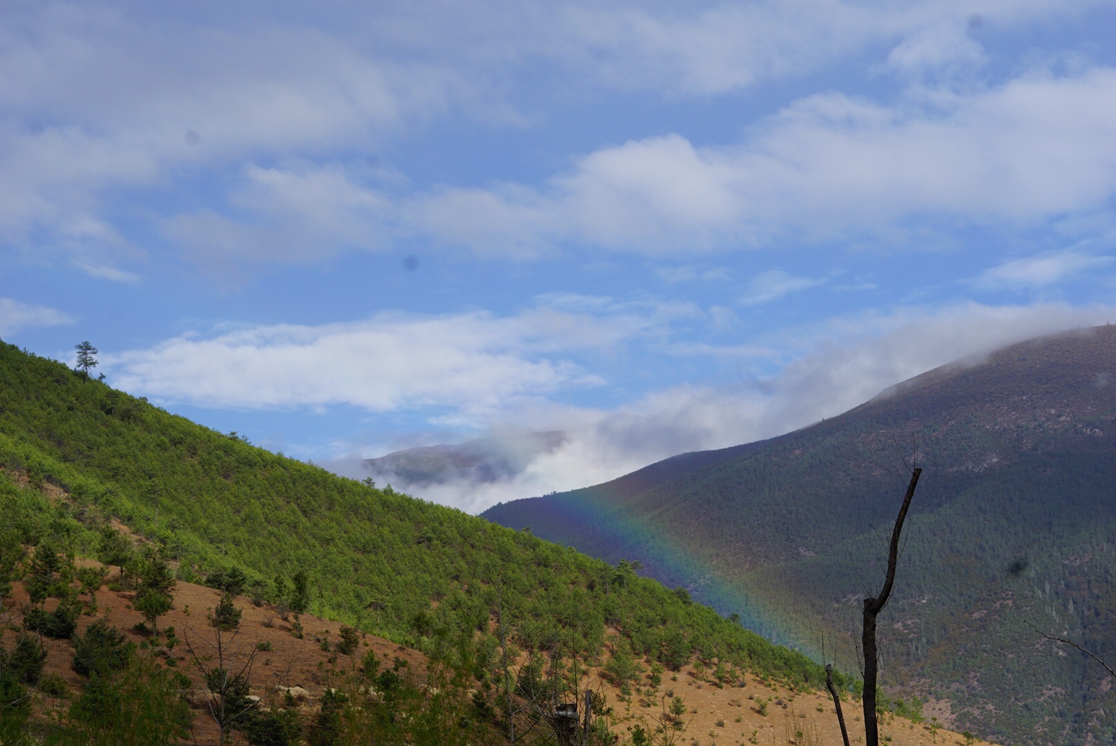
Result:
M0 545L49 539L92 556L118 518L163 545L182 580L239 568L246 593L271 599L277 576L305 572L314 613L420 649L458 640L478 676L500 605L528 651L591 661L608 645L668 668L698 656L728 678L824 678L626 565L270 453L6 344L0 467Z

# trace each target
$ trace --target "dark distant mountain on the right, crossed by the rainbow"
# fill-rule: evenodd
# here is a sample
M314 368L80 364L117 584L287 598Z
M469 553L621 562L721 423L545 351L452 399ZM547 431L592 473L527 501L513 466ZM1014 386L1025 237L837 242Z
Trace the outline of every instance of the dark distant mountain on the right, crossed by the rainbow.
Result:
M1116 327L921 375L770 441L686 455L598 487L497 506L508 526L687 586L723 613L854 660L906 482L924 467L884 682L951 702L958 729L1110 743L1116 692L1074 650L1116 660Z

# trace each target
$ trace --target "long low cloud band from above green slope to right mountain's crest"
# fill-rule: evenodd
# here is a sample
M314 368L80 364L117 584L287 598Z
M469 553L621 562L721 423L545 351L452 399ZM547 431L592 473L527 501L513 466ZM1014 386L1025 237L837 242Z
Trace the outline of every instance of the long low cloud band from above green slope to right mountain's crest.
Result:
M619 391L620 382L596 370L597 353L661 345L671 336L670 321L650 308L617 313L602 299L564 302L581 308L597 303L598 312L540 306L506 317L384 315L315 327L227 329L106 356L104 366L115 385L162 401L248 409L347 405L371 413L411 409L425 411L432 428L464 427L487 432L490 442L529 440L517 432L560 433L547 448L520 449L518 471L503 470L494 481L394 482L478 511L605 481L680 452L773 437L839 414L937 365L1116 318L1113 306L971 302L839 316L772 331L732 350L745 362L778 364L772 376L634 392L616 407L595 408L562 400L585 388ZM702 357L724 351L683 345L672 352ZM328 465L368 476L360 459L389 450L397 449L338 443Z

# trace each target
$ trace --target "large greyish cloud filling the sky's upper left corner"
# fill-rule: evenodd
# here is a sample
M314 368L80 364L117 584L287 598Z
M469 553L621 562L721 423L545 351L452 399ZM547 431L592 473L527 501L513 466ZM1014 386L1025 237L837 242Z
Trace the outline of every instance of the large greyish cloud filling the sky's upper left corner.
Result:
M11 12L0 32L0 241L38 232L115 267L119 247L73 227L105 223L129 190L261 156L367 152L472 88L449 67L398 65L309 25L217 19L94 3ZM271 190L279 202L282 185Z

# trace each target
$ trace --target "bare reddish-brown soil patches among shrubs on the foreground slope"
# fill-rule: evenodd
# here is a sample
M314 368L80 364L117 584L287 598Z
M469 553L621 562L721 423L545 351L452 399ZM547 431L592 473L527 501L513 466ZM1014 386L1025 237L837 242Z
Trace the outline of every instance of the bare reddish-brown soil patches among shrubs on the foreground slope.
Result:
M79 560L79 564L96 564ZM118 572L110 568L113 573ZM113 573L109 574L112 578ZM128 638L141 643L150 639L148 634L137 632L133 628L142 622L142 616L132 609L132 592L109 591L103 586L97 592L97 615L83 616L78 624L78 633L84 632L95 619L105 619L108 623L124 630ZM215 640L215 630L209 623L206 615L217 606L221 593L214 589L192 583L180 582L174 593L174 609L158 619L161 629L173 627L180 642L171 652L176 668L190 677L193 686L191 706L194 708L194 724L191 742L198 744L217 743L218 731L206 710L206 696L201 682L201 672L194 663L190 647L200 657L211 656L210 644ZM47 609L51 610L58 602L49 600ZM11 603L9 627L16 629L28 599L21 584L15 584L15 595ZM340 656L334 651L323 651L321 641L333 644L339 639L340 625L337 622L302 614L302 639L291 635L294 616L287 620L280 618L275 606L264 603L257 608L240 596L237 605L242 610L240 630L232 641L231 649L241 659L249 656L257 643L270 644L270 650L257 651L251 668L252 694L261 698L271 697L281 701L278 687L301 687L308 697L300 699L300 707L307 711L315 710L315 702L321 696L323 689L331 683L331 676L353 671L359 664L359 659L368 651L374 651L385 663L393 663L395 658L407 661L408 668L419 673L424 669L424 658L416 650L397 645L389 640L374 635L364 635L360 648L352 656ZM6 614L7 615L7 614ZM225 633L228 641L229 633ZM11 643L12 637L6 635L3 642ZM189 641L189 645L186 642ZM68 640L44 639L48 651L46 673L61 677L71 691L79 691L84 679L71 667L74 648ZM673 678L672 678L673 677ZM676 679L676 680L675 680ZM775 683L764 683L754 677L747 676L742 687L720 688L704 680L692 667L686 667L677 673L670 671L663 675L663 682L655 688L655 697L644 699L635 696L627 702L619 697L619 689L602 681L597 671L589 671L586 683L599 687L605 694L607 704L613 707L613 729L620 734L622 742L636 724L654 729L663 712L662 700L677 695L683 699L690 712L686 714L687 727L679 744L683 746L839 746L840 731L834 715L833 701L822 692L792 692ZM644 694L650 681L644 681ZM766 700L767 715L760 715L760 700ZM646 706L642 705L644 702ZM44 709L66 707L65 699L44 698ZM863 724L860 715L853 702L844 706L852 742L863 744ZM797 733L802 735L798 736ZM964 744L960 735L939 729L931 731L929 726L915 725L899 718L887 718L881 727L882 737L889 736L889 746L923 746L942 744ZM232 743L243 743L238 734ZM977 742L984 743L984 742Z

